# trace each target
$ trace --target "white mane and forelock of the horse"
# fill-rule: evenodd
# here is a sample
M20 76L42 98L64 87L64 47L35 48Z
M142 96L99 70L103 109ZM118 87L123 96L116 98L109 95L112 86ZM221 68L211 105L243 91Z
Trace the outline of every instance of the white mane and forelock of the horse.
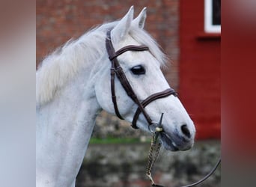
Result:
M117 22L103 24L88 31L77 40L69 40L42 61L36 73L37 105L49 102L55 92L76 76L79 70L89 63L94 63L106 52L106 31L116 24ZM148 46L159 63L165 65L166 56L146 31L132 26L129 34L138 43Z

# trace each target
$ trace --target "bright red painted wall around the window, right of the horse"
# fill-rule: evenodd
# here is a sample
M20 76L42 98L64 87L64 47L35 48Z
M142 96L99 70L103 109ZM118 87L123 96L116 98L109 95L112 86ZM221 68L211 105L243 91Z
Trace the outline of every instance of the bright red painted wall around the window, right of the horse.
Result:
M197 138L220 138L220 36L204 34L204 0L180 1L179 93Z

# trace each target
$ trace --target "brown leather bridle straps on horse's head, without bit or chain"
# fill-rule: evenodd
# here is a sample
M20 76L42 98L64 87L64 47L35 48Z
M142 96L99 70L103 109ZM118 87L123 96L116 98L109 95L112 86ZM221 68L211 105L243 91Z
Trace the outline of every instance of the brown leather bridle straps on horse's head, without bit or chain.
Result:
M144 117L147 120L148 126L153 124L154 122L150 119L150 116L147 114L147 111L145 111L145 107L150 103L153 102L156 99L160 99L166 96L174 95L177 96L177 93L172 88L168 88L165 91L161 91L158 93L153 93L152 95L148 96L146 99L144 99L142 102L139 102L138 97L136 96L135 92L132 89L132 86L129 84L127 77L125 76L124 70L120 66L117 57L124 52L127 51L135 51L135 52L141 52L141 51L149 51L149 48L147 46L141 45L141 46L124 46L123 48L119 49L117 52L115 52L115 49L112 44L111 40L111 31L107 32L106 37L106 49L109 54L109 60L112 63L110 75L111 75L111 93L112 93L112 102L114 104L115 108L115 114L122 120L124 120L124 117L121 116L119 110L118 110L118 103L115 96L115 75L118 77L119 81L121 82L121 85L123 86L124 90L127 92L127 95L138 105L137 110L135 111L135 114L133 116L132 120L132 127L134 129L138 129L136 123L138 120L139 114L142 112L144 114ZM150 129L150 128L149 128Z

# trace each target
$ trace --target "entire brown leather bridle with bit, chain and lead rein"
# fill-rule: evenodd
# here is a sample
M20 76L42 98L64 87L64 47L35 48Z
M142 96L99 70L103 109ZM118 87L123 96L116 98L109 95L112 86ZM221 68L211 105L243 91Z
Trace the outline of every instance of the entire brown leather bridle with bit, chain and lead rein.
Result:
M159 123L153 122L153 120L150 119L150 116L147 114L147 111L145 111L145 107L150 104L150 102L153 102L156 99L161 99L166 96L174 95L177 96L177 93L172 88L168 88L165 91L161 91L158 93L153 93L152 95L148 96L146 99L144 99L142 102L139 101L138 97L136 96L135 92L132 89L132 86L129 84L127 77L125 76L124 70L120 66L118 62L118 56L123 54L127 51L149 51L149 48L147 46L141 45L141 46L135 46L135 45L129 45L124 46L123 48L119 49L117 52L115 52L115 49L112 44L111 40L111 30L107 31L107 37L106 37L106 50L109 55L109 60L111 61L112 67L110 69L110 76L111 76L111 93L112 93L112 102L115 108L115 114L121 119L124 120L124 117L121 116L119 110L118 110L118 102L115 96L115 75L118 77L118 80L121 82L121 85L123 86L124 90L127 92L127 95L138 105L137 110L135 111L135 114L133 116L132 120L132 128L138 129L138 126L136 125L139 114L144 114L144 117L147 120L148 123L148 129L150 132L153 133L153 138L151 141L151 147L150 147L150 153L148 155L148 166L147 166L147 177L150 178L152 182L152 186L159 186L156 183L153 182L153 178L151 177L151 170L153 168L154 162L156 161L156 158L159 154L159 149L161 147L161 142L158 142L156 144L156 141L158 140L159 133L163 131L162 129L162 115L160 117ZM151 128L153 126L153 128ZM153 158L153 149L156 147L155 151L155 157ZM207 180L208 177L210 177L211 174L213 174L214 171L216 171L216 168L218 167L219 163L221 162L221 159L217 162L217 164L213 167L212 171L210 171L209 174L207 174L203 179L199 180L196 183L192 183L188 186L183 187L190 187L190 186L196 186L204 180Z

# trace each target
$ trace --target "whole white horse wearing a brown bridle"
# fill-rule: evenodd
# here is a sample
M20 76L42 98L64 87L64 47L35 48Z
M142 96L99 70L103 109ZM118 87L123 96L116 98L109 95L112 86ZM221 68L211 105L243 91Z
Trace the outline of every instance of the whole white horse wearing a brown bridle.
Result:
M143 30L146 8L133 19L133 7L119 21L88 31L46 57L37 70L37 187L75 186L97 114L115 114L110 89L111 62L106 52L106 32L111 30L115 50L145 45L148 51L128 51L118 61L139 100L169 88L160 67L165 55ZM142 67L144 73L132 71ZM122 117L131 122L137 105L116 79L115 94ZM153 121L161 113L161 141L167 150L188 150L194 144L195 126L177 96L157 99L145 107ZM139 129L149 131L144 115ZM182 126L186 126L183 129Z

